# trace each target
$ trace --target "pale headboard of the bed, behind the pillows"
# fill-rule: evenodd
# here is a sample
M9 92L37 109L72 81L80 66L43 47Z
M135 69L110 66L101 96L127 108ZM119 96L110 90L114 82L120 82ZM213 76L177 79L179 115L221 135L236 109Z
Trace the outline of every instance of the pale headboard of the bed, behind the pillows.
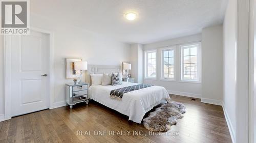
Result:
M118 73L122 72L121 66L108 66L108 65L88 65L86 71L86 82L91 85L91 73Z

